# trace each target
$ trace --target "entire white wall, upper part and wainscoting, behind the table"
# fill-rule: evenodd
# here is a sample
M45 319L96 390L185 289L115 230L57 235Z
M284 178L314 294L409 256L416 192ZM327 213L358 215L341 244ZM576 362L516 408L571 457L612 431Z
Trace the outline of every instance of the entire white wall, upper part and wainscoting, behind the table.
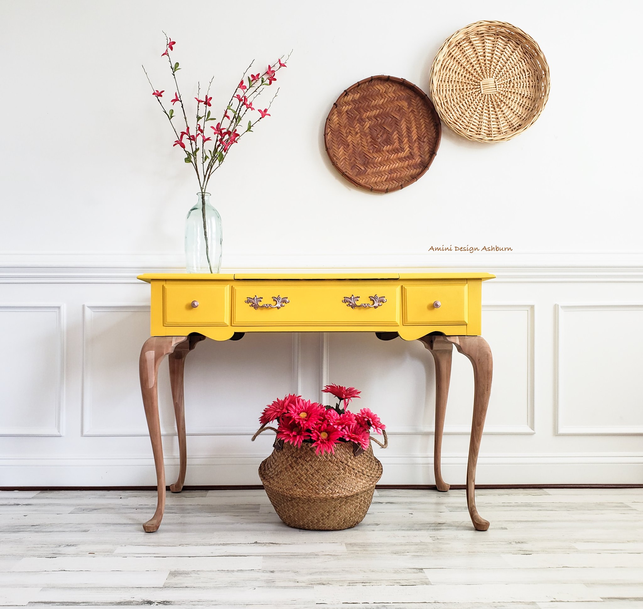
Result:
M249 0L235 5L236 29L222 26L222 6L0 1L0 486L154 482L136 378L149 286L134 277L183 264L197 190L140 68L174 91L163 29L177 41L184 96L215 71L217 108L249 59L294 49L272 116L209 188L224 267L496 273L484 285L496 368L478 482L640 482L642 134L628 119L641 97L640 4ZM543 48L552 90L538 122L496 145L444 127L431 169L401 192L343 180L321 135L341 91L378 73L428 90L442 41L478 19L514 23ZM513 251L428 252L442 244ZM452 483L464 482L468 365L455 356ZM361 388L390 427L382 482L432 481L422 345L302 334L208 341L190 355L187 483L257 482L269 450L268 438L249 442L260 408L287 391L319 397L326 380Z

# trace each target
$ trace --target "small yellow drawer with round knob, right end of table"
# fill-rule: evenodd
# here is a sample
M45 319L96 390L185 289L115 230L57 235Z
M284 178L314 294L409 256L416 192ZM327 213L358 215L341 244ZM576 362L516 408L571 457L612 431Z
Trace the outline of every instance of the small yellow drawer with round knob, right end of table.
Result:
M409 326L467 323L467 284L431 283L404 286L404 324ZM438 304L439 306L435 306Z

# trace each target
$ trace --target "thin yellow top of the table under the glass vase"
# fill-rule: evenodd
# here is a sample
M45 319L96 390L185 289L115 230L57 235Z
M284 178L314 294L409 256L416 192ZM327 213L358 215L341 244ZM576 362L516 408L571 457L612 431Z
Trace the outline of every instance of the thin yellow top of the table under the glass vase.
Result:
M336 272L329 271L325 273L145 273L139 275L138 279L150 283L154 280L190 280L190 281L239 281L243 279L309 279L309 280L325 280L325 279L493 279L495 275L491 273L396 273L396 272L380 272L380 273L359 273L359 272Z

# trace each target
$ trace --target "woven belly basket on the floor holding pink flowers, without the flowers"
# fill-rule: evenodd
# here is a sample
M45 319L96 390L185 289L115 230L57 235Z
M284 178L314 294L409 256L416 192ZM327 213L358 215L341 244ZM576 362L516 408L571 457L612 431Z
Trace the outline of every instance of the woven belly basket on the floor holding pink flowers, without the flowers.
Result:
M335 446L335 454L315 454L310 444L285 443L259 466L279 518L289 527L312 530L349 529L360 523L382 475L372 447L359 456L352 442Z

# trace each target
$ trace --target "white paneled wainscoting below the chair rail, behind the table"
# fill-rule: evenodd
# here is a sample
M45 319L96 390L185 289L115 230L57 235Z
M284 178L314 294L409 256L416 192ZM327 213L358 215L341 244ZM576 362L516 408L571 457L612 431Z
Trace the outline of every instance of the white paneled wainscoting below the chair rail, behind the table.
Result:
M0 331L10 345L0 355L0 487L154 484L138 381L149 287L116 260L90 267L0 274ZM608 267L484 269L498 280L483 288L494 377L478 483L643 480L643 268ZM606 302L596 303L599 292ZM171 479L178 451L168 380L163 362ZM262 408L291 392L327 400L328 382L361 389L354 408L372 408L390 430L389 448L376 449L382 483L433 483L435 378L426 348L305 332L207 340L188 355L186 483L258 483L273 441L265 433L250 442ZM442 458L450 483L466 480L472 403L471 364L454 348Z

